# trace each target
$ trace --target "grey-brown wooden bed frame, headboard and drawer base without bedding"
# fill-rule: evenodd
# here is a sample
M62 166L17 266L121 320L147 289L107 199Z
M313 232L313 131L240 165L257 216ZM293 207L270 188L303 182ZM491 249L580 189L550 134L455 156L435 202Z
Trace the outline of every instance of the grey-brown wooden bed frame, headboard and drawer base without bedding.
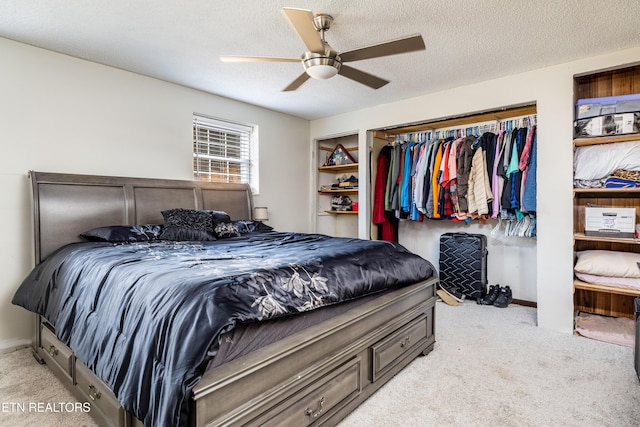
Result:
M251 219L240 184L30 172L35 260L98 226L162 223L175 207ZM335 425L435 343L437 278L385 293L305 331L207 371L193 389L189 424ZM104 426L142 426L106 384L37 319L34 355ZM426 373L425 373L426 377Z

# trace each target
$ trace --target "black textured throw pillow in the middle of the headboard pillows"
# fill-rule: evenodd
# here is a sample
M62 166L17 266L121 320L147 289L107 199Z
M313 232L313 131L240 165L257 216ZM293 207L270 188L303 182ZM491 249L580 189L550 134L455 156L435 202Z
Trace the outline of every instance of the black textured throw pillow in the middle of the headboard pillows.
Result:
M211 211L176 208L162 211L162 240L215 240Z

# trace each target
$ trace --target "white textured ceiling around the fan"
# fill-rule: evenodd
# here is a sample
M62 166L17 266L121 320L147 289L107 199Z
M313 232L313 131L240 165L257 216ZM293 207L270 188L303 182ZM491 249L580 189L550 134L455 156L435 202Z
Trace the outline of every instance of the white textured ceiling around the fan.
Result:
M282 7L327 13L346 51L415 33L426 50L349 65L391 83L336 76L282 89L298 63L223 63L220 55L297 58ZM638 0L2 0L0 37L307 119L640 45ZM640 58L638 58L640 60Z

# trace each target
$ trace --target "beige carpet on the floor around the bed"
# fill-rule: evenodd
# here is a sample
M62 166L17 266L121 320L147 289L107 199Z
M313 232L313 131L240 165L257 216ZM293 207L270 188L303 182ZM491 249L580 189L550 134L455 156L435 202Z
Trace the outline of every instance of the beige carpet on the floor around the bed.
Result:
M542 330L529 307L438 303L436 311L435 350L340 427L640 426L632 348ZM0 355L1 426L94 425L65 411L73 402L28 349Z

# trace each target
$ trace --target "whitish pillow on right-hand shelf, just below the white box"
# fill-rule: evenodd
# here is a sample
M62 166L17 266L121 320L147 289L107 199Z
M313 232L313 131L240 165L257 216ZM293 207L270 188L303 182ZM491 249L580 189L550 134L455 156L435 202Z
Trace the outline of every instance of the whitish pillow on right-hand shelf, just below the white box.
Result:
M588 250L577 253L574 270L612 277L640 277L640 254L633 252Z

